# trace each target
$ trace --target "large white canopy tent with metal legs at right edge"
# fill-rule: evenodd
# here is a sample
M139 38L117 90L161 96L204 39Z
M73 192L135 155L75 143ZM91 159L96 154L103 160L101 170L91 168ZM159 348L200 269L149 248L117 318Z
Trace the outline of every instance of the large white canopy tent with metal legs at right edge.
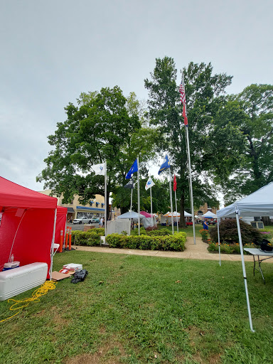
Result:
M267 186L259 188L254 193L251 193L249 196L242 198L241 200L237 200L235 203L228 205L225 208L217 211L218 218L233 218L236 217L237 220L237 230L238 237L240 243L240 252L242 259L242 273L245 280L245 294L247 296L247 309L248 316L250 319L250 329L254 331L252 328L252 317L250 311L250 300L248 296L247 290L247 275L245 272L245 259L244 259L244 250L242 247L242 237L240 231L240 216L272 216L273 215L273 182L269 183ZM220 236L218 230L218 241L220 244Z

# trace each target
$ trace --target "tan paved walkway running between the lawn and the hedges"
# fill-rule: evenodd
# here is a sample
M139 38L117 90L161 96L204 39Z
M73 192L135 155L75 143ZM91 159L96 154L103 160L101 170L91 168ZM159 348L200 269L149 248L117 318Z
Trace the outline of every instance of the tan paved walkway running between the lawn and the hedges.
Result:
M219 260L218 253L210 253L207 250L208 244L202 241L200 237L196 237L196 245L193 243L193 237L187 237L186 250L184 252L164 252L161 250L137 250L137 249L118 249L114 247L82 247L74 246L76 250L85 250L87 252L127 254L127 255L145 255L149 257L167 257L179 259L208 259ZM245 262L253 262L250 255L244 255ZM237 254L221 254L221 260L230 260L231 262L241 261L241 255ZM272 262L273 259L264 262Z

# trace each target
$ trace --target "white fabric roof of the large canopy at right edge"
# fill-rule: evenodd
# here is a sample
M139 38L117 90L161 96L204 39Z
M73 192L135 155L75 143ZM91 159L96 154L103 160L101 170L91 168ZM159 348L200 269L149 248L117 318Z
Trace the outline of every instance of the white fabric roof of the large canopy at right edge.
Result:
M273 182L259 188L251 195L237 200L235 203L217 211L218 218L235 216L239 210L240 216L272 216L273 215Z

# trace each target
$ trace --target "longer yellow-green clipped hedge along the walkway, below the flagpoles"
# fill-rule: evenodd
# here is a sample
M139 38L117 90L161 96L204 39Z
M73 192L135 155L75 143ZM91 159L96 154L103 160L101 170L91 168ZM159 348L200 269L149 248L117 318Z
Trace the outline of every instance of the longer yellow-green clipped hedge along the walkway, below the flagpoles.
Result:
M173 250L183 252L185 249L186 232L176 232L174 235L108 235L109 247L140 250Z

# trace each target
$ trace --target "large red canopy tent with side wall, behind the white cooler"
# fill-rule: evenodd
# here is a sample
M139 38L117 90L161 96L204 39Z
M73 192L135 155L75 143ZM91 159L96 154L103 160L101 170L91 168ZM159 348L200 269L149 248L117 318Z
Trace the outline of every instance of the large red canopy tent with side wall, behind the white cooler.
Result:
M20 265L52 259L57 198L0 177L0 270L11 255Z

